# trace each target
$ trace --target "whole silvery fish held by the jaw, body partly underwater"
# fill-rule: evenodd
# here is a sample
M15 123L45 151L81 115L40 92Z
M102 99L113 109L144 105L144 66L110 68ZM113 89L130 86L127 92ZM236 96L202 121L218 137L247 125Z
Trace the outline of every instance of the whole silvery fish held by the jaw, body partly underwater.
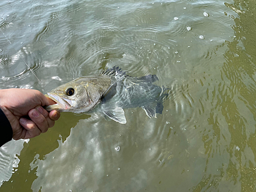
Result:
M86 114L98 111L106 120L125 124L123 109L141 107L148 117L157 118L168 96L167 88L154 84L157 80L156 75L132 77L115 66L99 75L76 78L48 92L46 96L56 104L45 109Z

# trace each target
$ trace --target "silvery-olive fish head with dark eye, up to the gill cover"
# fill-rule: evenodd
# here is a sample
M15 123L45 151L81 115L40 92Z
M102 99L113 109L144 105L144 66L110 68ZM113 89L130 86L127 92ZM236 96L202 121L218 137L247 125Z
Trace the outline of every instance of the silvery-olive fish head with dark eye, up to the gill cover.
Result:
M91 90L95 90L96 93L92 93ZM53 89L46 96L56 102L56 104L46 106L47 111L83 113L95 107L101 94L97 93L97 86L93 83L75 79Z

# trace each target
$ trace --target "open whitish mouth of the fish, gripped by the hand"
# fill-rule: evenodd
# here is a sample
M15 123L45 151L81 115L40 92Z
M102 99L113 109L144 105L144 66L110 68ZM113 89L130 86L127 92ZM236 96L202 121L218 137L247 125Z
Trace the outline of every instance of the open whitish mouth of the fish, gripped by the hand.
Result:
M68 111L72 106L71 99L61 98L60 96L52 93L47 93L47 95L45 96L56 102L56 104L46 106L45 109L47 111L52 111L52 110L56 110L59 112Z

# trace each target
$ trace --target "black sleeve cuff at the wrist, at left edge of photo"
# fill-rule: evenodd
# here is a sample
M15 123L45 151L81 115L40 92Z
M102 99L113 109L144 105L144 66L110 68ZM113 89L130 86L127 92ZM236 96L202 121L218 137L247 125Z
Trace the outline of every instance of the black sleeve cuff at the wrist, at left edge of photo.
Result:
M0 147L10 140L12 140L12 126L0 109Z

